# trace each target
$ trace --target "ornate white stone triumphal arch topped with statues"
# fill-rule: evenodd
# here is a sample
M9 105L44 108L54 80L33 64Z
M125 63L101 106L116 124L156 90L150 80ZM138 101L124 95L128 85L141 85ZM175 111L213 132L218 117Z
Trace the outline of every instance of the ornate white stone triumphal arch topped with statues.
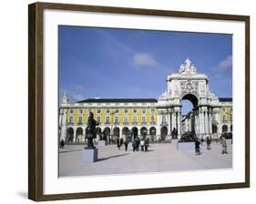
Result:
M181 116L183 99L193 105L187 116ZM204 137L213 132L212 127L218 125L215 118L220 117L220 107L219 98L210 92L208 76L198 73L187 58L179 66L179 73L167 77L167 90L159 97L160 126L169 126L170 137L174 128L178 138L186 130Z

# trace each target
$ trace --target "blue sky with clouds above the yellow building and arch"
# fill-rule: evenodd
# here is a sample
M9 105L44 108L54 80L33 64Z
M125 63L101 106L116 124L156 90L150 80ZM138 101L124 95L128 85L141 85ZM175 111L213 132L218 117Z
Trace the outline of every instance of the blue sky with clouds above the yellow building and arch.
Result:
M58 27L59 94L154 97L188 56L218 97L232 97L232 36L132 29Z

